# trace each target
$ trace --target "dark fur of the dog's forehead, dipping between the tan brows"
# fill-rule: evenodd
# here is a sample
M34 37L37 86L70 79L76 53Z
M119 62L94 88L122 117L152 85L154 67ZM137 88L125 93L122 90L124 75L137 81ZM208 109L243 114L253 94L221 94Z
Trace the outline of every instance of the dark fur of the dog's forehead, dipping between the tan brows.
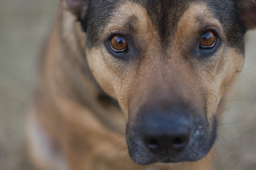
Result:
M235 0L95 0L91 2L88 11L88 18L90 20L88 23L88 40L90 41L90 45L94 46L96 45L93 45L94 42L100 41L98 39L102 37L100 34L104 32L106 26L109 23L115 22L115 20L112 20L113 17L123 17L122 13L128 14L129 16L138 13L138 8L130 8L131 4L136 4L141 7L140 9L146 11L147 17L150 18L152 23L152 27L156 30L159 37L164 40L174 36L180 18L193 4L201 4L208 7L208 11L210 11L214 18L219 20L224 28L229 43L237 43L236 39L243 36L240 34L241 30L239 30L241 27L236 26L239 17L238 14L236 14L238 12L236 12ZM122 8L122 10L119 10L120 8ZM118 10L119 13L117 12ZM204 14L201 12L201 18L203 17ZM125 20L125 18L123 18L123 20ZM129 22L129 20L127 22ZM234 34L234 32L238 34ZM232 45L236 47L241 46L240 44Z

